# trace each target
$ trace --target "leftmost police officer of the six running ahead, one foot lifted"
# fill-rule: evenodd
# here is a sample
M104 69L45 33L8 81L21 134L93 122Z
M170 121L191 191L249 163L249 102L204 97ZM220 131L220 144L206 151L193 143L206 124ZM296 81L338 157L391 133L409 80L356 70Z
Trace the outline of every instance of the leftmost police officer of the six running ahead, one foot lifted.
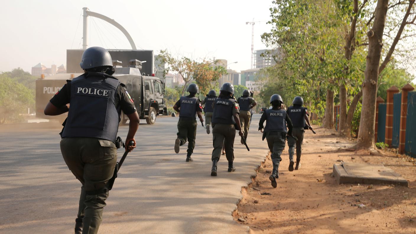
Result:
M201 123L204 120L201 115L202 105L199 99L195 97L199 91L198 85L191 84L186 91L189 92L189 95L181 97L173 106L173 109L179 112L178 138L175 140L175 152L179 153L179 146L185 144L186 140L188 140L186 162L191 162L193 161L191 155L193 148L195 148L196 127L198 125L196 123L196 115L198 115Z

